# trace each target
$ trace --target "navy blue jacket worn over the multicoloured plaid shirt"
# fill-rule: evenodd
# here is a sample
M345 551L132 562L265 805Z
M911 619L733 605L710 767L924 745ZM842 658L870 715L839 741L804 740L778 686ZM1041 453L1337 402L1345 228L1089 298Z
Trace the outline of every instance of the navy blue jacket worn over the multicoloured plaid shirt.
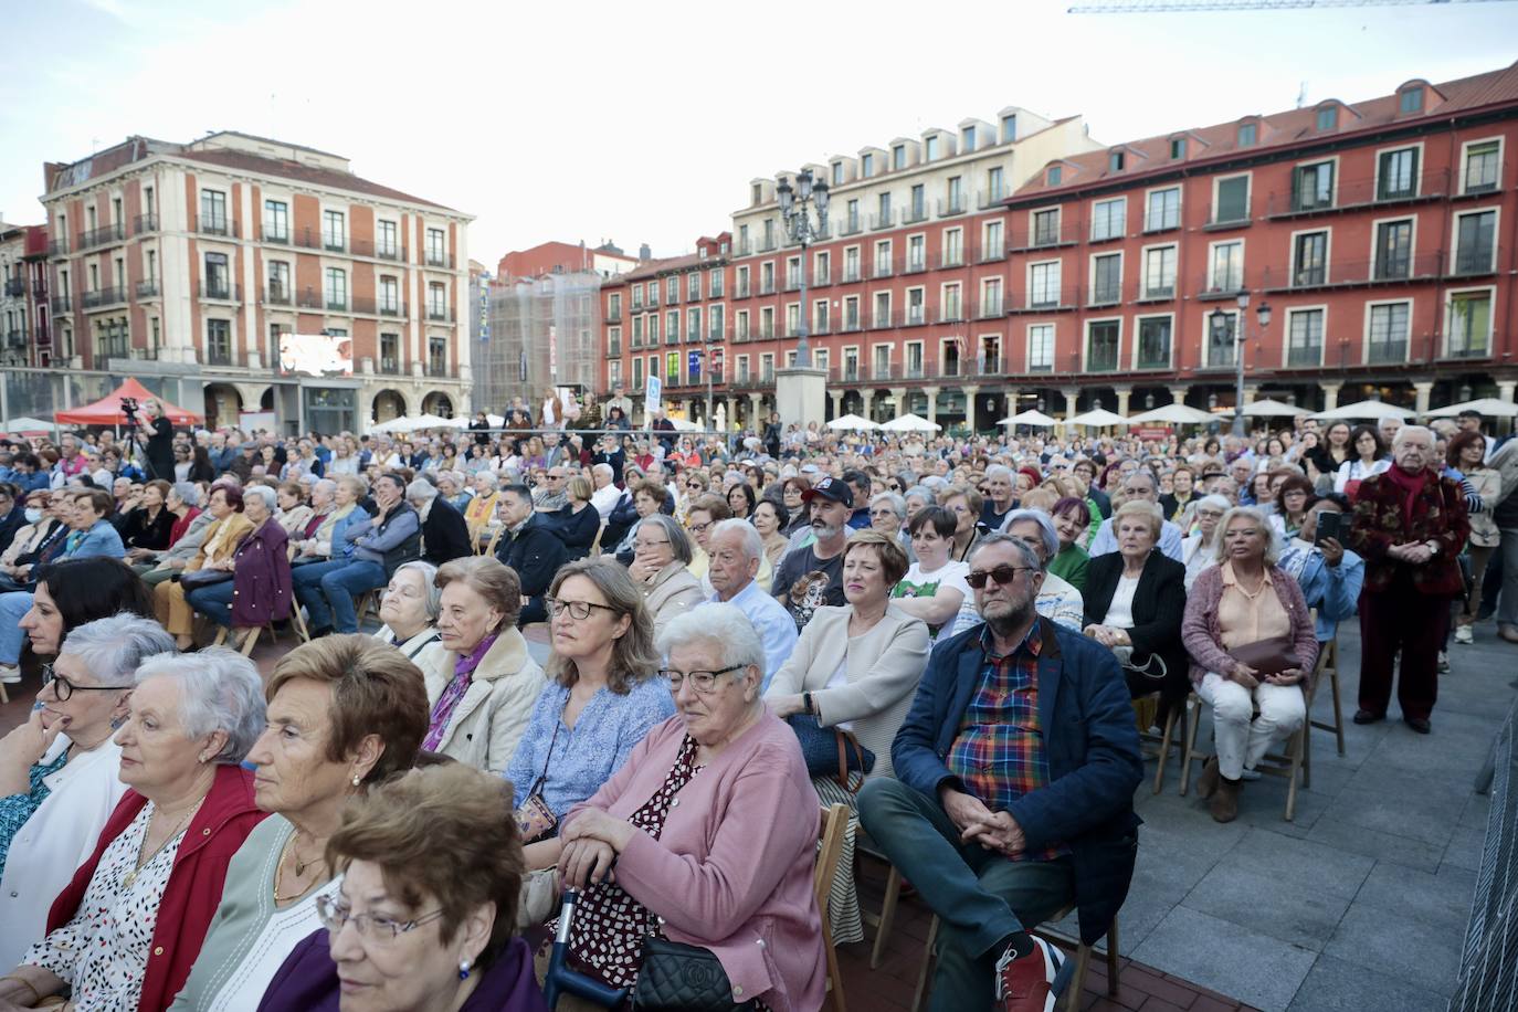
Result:
M1070 848L1081 939L1094 944L1122 907L1138 853L1132 795L1143 778L1138 730L1113 651L1040 618L1038 722L1049 786L1008 809L1029 850ZM934 648L912 709L891 743L896 777L938 800L956 783L944 765L981 681L984 627Z

